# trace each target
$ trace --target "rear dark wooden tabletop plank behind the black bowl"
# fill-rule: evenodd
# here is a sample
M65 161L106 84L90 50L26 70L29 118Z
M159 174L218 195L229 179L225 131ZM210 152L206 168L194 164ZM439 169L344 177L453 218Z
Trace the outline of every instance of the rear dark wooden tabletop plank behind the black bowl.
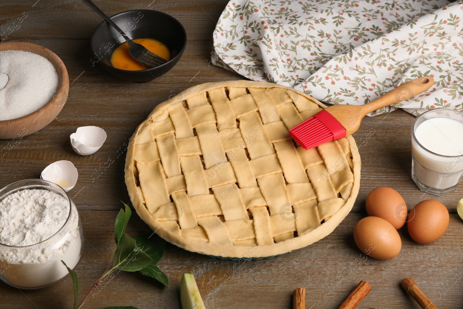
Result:
M37 1L37 0L36 0ZM15 0L0 5L0 33L27 16L7 38L90 38L103 18L82 1ZM181 22L190 40L212 40L212 32L227 0L97 0L108 16L137 9L167 13ZM23 15L23 13L27 15ZM198 26L200 25L200 26ZM10 30L11 31L11 30Z

